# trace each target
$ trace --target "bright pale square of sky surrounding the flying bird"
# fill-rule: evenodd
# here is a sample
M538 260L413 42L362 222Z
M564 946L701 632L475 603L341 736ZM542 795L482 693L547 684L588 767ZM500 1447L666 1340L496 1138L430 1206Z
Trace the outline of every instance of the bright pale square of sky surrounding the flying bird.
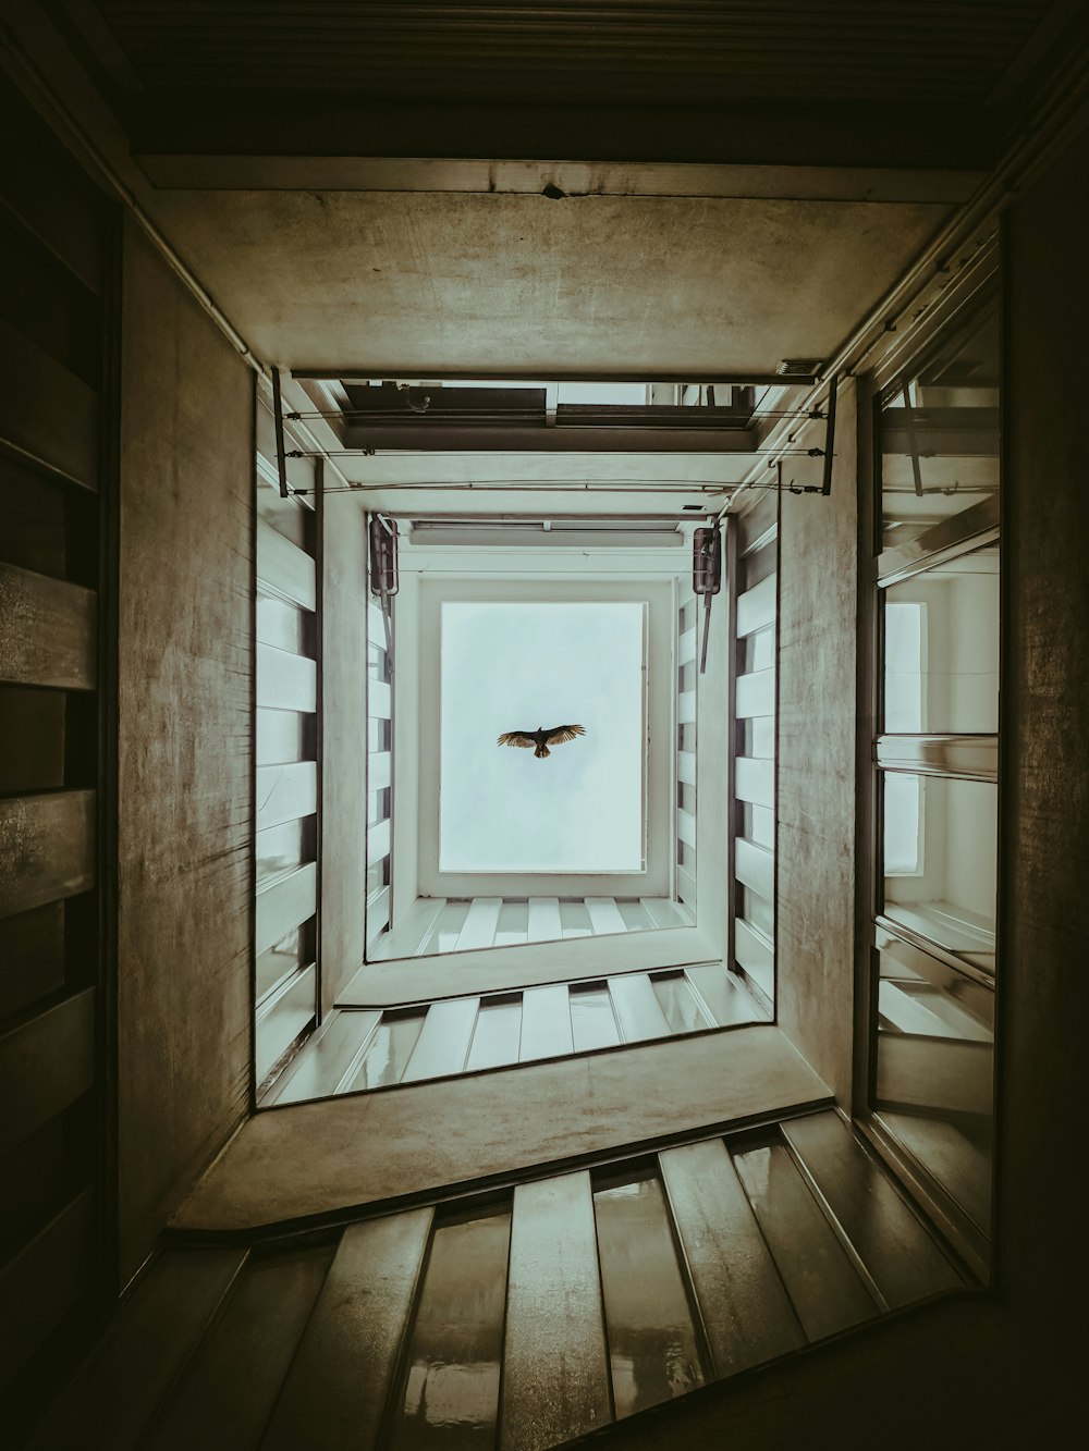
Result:
M639 602L443 604L440 871L643 869L645 637Z

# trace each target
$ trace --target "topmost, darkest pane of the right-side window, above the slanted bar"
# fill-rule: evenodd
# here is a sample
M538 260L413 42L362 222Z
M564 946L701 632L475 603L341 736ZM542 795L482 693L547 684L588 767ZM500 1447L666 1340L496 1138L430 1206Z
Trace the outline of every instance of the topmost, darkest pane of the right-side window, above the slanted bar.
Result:
M999 319L990 305L881 408L883 548L998 493Z

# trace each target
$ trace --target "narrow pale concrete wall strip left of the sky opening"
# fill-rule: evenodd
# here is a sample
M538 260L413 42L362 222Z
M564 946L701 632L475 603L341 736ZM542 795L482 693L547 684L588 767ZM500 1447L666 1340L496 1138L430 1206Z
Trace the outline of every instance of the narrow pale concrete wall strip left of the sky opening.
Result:
M366 894L367 538L346 493L322 501L321 997L333 1007L363 962Z

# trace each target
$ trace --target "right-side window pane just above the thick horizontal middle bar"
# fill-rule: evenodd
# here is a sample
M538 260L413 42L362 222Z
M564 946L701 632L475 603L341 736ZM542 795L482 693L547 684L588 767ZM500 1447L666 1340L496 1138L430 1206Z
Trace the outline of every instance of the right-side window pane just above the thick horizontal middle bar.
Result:
M884 730L998 731L998 546L884 592Z

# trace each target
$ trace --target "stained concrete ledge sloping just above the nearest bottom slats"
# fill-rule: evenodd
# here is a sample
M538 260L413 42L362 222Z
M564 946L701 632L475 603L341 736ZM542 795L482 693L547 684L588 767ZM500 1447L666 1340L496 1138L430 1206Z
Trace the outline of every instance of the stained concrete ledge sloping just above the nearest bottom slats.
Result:
M828 1101L775 1027L258 1113L174 1214L247 1229Z

